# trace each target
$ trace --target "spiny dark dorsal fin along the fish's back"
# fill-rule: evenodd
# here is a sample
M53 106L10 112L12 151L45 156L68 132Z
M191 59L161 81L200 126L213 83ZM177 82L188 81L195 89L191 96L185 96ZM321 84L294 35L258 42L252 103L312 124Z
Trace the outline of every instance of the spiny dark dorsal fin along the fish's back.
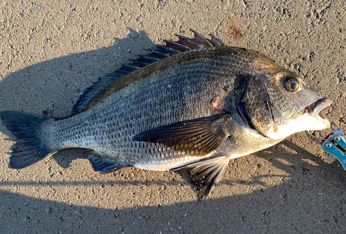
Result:
M194 33L194 38L189 39L181 35L176 35L179 37L177 42L172 42L165 40L165 46L156 46L152 53L149 55L139 55L137 60L131 61L129 64L122 64L120 69L115 71L112 74L104 76L95 82L91 87L84 90L78 101L75 103L72 109L72 115L79 114L82 111L88 109L89 104L93 101L94 98L98 96L100 91L109 87L115 80L118 78L127 75L133 71L143 68L149 64L162 60L165 57L170 57L177 53L184 51L189 51L197 48L206 48L213 46L223 46L224 44L213 35L210 35L211 39L206 39L199 33L190 29Z

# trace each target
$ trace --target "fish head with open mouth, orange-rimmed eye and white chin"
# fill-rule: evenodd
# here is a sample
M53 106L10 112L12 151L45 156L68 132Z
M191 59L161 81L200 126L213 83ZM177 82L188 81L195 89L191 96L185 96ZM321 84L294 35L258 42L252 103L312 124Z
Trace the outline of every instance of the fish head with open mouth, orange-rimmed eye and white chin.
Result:
M277 71L279 70L279 71ZM295 132L330 128L319 113L331 105L300 75L286 69L248 73L237 99L239 114L251 129L278 140Z

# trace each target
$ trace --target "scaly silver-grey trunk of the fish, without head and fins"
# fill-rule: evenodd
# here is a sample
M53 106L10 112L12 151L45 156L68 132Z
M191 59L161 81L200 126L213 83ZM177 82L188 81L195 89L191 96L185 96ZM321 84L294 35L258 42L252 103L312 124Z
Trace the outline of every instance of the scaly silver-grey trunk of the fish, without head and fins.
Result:
M212 49L215 48L221 52L228 49ZM206 57L204 53L214 51L205 49L192 52L194 57ZM178 56L180 54L169 58L179 60ZM229 105L226 124L232 125L233 129L228 133L232 136L216 152L191 155L160 143L132 140L136 134L148 129L215 114L221 116L222 113L217 112L224 111L226 96L233 96L232 92L235 92L237 84L233 74L241 73L245 67L233 66L234 56L214 56L158 71L151 77L112 93L92 109L71 118L47 122L42 138L51 139L48 145L55 151L66 147L83 147L107 159L153 170L170 170L220 154L219 150L227 152L226 155L231 158L277 143L277 140L247 129L235 110L235 98L232 98L233 103L226 104ZM244 63L244 66L248 65ZM170 88L167 88L168 85ZM213 107L212 102L217 102L218 106Z

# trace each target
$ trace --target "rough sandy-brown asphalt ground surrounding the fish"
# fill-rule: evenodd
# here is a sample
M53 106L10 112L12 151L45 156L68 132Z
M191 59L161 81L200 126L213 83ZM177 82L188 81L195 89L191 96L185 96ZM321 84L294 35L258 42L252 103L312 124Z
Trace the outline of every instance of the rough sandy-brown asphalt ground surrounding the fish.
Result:
M345 1L0 1L0 111L71 113L80 93L174 34L212 33L304 76L346 131ZM345 233L346 172L294 134L230 161L207 201L186 170L93 172L82 150L8 168L1 233Z

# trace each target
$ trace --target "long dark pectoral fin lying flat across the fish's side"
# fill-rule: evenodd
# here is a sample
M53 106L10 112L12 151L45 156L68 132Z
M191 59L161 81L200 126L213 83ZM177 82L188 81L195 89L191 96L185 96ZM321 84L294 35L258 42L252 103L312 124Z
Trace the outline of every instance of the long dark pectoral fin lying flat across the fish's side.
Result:
M224 123L228 114L187 120L140 132L132 141L162 143L174 150L192 155L206 155L217 149L228 137Z

